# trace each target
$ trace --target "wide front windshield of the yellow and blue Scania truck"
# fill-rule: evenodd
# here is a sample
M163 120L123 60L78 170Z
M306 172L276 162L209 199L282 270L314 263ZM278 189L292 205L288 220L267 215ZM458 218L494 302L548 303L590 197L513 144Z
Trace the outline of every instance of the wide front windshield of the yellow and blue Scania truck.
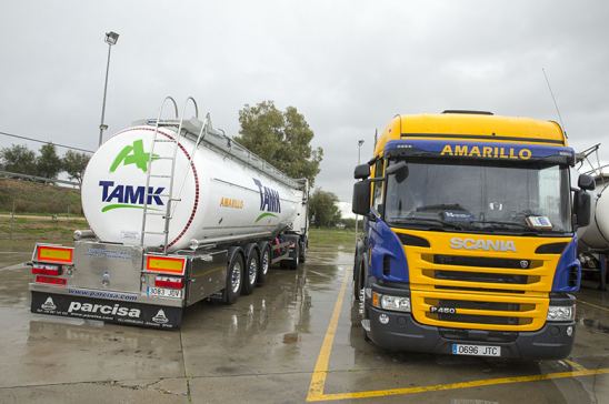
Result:
M408 162L406 175L388 175L385 218L400 228L570 232L568 168Z

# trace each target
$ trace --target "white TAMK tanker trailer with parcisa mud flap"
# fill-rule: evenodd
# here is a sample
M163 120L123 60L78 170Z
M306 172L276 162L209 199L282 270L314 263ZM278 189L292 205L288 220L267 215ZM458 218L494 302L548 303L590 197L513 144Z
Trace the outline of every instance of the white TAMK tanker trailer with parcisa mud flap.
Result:
M31 311L176 329L203 299L233 303L307 248L307 180L204 122L143 120L103 143L82 179L90 230L38 243ZM282 265L283 266L283 265Z

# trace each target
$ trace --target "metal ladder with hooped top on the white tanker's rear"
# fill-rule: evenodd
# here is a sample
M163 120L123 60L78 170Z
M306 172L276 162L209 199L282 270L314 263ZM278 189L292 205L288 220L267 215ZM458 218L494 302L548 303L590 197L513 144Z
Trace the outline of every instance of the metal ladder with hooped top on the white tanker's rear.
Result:
M173 104L173 111L174 111L174 114L176 114L176 120L161 121L161 117L162 117L163 109L164 109L164 105L166 105L167 101L171 101L171 103ZM192 101L192 104L194 105L196 118L199 119L199 107L197 105L197 101L192 97L189 97L186 100L184 105L182 108L181 117L178 115L178 104L176 103L176 100L172 97L166 97L164 98L164 100L161 104L161 108L159 109L159 117L158 117L157 122L154 124L154 134L153 134L153 138L152 138L152 147L150 149L150 154L148 155L147 174L146 174L146 188L144 188L144 194L143 194L143 213L142 213L142 223L141 223L140 245L142 248L144 246L144 240L146 240L147 234L162 235L163 236L163 243L162 243L163 254L167 254L167 249L168 249L168 243L169 243L169 225L171 223L171 216L173 214L173 212L171 210L171 205L172 205L172 202L179 202L180 201L179 198L173 198L173 185L174 185L174 178L176 178L176 175L174 175L176 174L176 159L178 156L178 149L180 148L180 139L182 137L183 114L184 114L186 107L188 105L189 101ZM159 133L160 133L159 132L159 127L176 128L176 135L174 137L168 137L168 138L159 137ZM202 129L204 129L204 128L202 128ZM201 130L201 133L202 133L202 130ZM156 145L158 143L172 144L172 149L171 149L170 154L169 155L156 155L154 150L156 150ZM194 152L194 150L192 152ZM190 163L190 160L192 159L192 155L193 155L193 153L190 154L189 163ZM170 161L171 162L171 165L170 165L171 168L170 168L169 172L164 172L164 173L162 173L162 172L161 173L156 173L156 172L153 173L152 172L152 165L153 165L152 163L154 161L158 161L158 160L164 160L164 161ZM163 179L163 180L169 181L168 193L154 195L154 196L162 198L167 201L166 206L164 206L164 212L151 211L148 208L148 205L150 204L149 199L150 200L152 199L152 198L149 196L149 194L150 194L150 179L151 178ZM162 216L162 219L163 219L163 230L162 231L148 230L147 224L148 224L148 218L149 216Z

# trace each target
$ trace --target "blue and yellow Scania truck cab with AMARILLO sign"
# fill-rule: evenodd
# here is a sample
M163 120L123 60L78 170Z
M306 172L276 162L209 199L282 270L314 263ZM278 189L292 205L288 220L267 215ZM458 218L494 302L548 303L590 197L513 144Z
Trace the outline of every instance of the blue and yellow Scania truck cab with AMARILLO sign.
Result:
M365 335L403 351L566 357L593 186L572 189L556 122L397 115L356 168L353 294Z

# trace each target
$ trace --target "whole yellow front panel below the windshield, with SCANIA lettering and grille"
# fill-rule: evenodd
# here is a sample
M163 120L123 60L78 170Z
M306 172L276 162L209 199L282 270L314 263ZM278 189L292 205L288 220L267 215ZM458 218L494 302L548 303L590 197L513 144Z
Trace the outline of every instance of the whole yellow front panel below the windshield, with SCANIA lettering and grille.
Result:
M426 231L397 229L397 232L402 233L402 239L408 234L429 244L403 246L417 322L449 330L465 340L463 333L471 339L491 333L502 339L510 336L500 333L537 331L546 324L548 294L561 252L560 249L538 252L548 244L548 239L467 235L513 243L513 249L499 251L483 246L453 248L451 240L465 238L463 234L433 232L431 238ZM552 242L567 243L570 239L557 238Z

